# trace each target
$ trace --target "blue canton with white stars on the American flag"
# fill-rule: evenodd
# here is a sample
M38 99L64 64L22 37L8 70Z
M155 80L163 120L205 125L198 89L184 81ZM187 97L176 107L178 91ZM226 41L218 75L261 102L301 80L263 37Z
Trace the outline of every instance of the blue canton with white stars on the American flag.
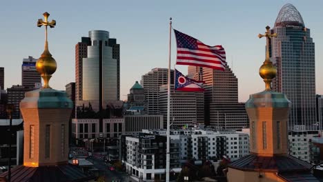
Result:
M187 48L190 50L197 50L196 39L188 36L187 34L179 32L175 29L174 29L174 32L176 36L177 48Z

